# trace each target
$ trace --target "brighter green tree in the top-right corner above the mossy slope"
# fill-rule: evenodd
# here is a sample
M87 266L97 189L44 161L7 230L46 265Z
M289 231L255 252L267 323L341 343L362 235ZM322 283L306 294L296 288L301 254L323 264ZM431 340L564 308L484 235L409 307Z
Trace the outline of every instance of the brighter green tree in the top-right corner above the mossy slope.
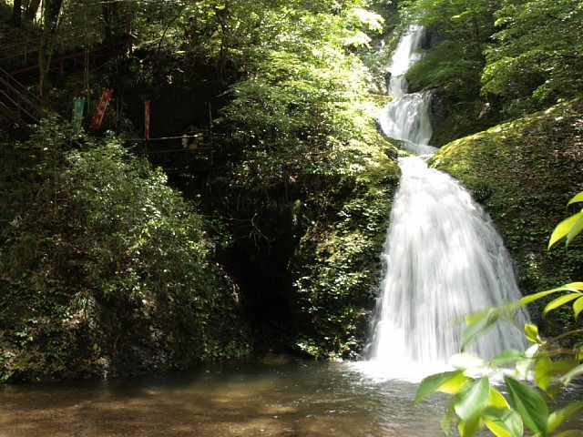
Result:
M583 5L571 0L505 0L496 11L496 44L486 50L483 93L510 115L580 95Z

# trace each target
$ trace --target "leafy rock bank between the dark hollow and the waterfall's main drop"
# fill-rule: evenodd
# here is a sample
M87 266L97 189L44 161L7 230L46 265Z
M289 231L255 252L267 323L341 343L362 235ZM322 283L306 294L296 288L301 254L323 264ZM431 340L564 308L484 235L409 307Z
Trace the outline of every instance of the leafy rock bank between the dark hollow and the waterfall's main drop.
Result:
M377 137L368 151L353 178L329 186L325 213L308 211L290 263L295 346L317 358L355 358L368 334L400 175L389 143Z

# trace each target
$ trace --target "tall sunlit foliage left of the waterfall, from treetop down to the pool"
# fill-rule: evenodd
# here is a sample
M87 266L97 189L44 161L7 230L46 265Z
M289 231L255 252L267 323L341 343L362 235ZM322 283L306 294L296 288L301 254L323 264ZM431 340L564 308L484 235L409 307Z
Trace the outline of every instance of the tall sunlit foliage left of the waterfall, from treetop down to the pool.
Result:
M249 258L289 250L285 274L297 280L281 287L302 331L295 343L318 357L357 348L375 280L366 254L381 249L377 227L394 187L378 185L397 173L363 102L367 70L354 54L380 18L323 5L263 12L274 31L248 49L248 73L230 86L219 120L233 141L220 208L236 236L253 239Z

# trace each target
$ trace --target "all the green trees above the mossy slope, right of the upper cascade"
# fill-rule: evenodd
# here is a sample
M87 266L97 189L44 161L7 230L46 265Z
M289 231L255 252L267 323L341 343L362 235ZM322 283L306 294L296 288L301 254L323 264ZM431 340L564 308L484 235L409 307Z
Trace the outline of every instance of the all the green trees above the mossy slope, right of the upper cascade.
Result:
M445 107L433 143L580 96L583 6L571 0L415 0L404 20L435 37L407 74Z

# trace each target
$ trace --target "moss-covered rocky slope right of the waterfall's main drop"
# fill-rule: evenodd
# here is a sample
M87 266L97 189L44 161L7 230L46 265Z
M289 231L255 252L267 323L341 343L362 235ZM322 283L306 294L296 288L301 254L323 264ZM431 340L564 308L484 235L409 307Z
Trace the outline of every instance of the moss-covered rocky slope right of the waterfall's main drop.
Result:
M449 143L431 165L463 181L486 206L517 261L524 293L583 279L580 242L547 251L568 199L583 189L582 99ZM547 317L547 334L565 323L560 314Z

